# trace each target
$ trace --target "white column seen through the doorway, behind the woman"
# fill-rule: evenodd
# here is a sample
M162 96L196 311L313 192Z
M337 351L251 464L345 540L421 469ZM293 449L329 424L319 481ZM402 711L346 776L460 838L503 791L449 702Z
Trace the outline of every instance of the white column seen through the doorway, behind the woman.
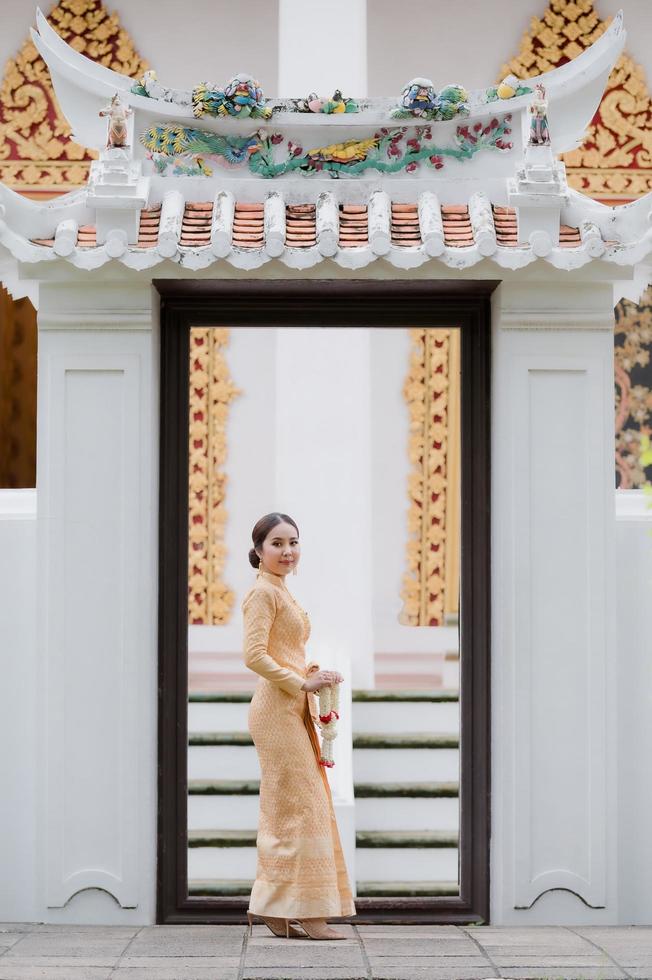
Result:
M311 619L309 660L339 670L342 712L329 771L355 887L351 688L373 686L369 331L277 331L278 508L302 545L288 585Z

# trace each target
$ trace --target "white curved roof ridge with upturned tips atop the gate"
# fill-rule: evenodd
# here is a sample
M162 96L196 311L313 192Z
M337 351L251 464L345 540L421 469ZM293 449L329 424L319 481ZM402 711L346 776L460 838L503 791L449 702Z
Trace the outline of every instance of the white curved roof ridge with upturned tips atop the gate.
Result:
M361 100L365 108L359 113L322 115L279 111L275 112L269 120L243 121L232 117L211 116L203 116L198 120L193 115L192 106L181 106L132 93L133 79L98 65L75 51L57 34L40 11L37 12L37 25L38 31L32 31L32 39L48 65L62 111L75 133L75 138L82 145L97 150L104 147L106 139L105 121L100 120L97 113L116 91L121 92L124 101L128 102L134 110L136 116L134 131L139 134L167 120L191 124L193 127L211 132L238 135L244 134L245 127L248 132L283 131L300 127L302 130L310 130L311 132L302 135L305 135L306 140L314 139L314 145L319 146L324 142L337 142L346 138L363 139L370 136L378 125L396 128L424 125L424 120L418 117L391 118L390 111L398 102L398 93L394 100L391 97ZM599 105L609 72L624 46L625 38L626 32L623 27L622 12L620 12L598 40L577 58L542 75L523 80L529 87L533 87L536 82L542 82L546 86L554 153L564 153L581 144L586 127ZM531 100L529 94L508 100L497 99L486 102L482 100L482 91L476 90L470 93L468 117L455 117L451 121L435 122L432 125L442 135L449 135L454 133L460 122L466 123L467 120L473 122L480 117L487 117L490 113L511 112L514 116L514 126L517 126L520 121L521 129L525 132ZM276 104L287 102L288 100L277 100ZM270 104L274 105L274 100L270 100ZM514 132L516 133L516 129ZM136 139L134 142L137 142ZM139 149L138 146L134 147L136 154L139 153ZM505 156L508 155L505 153Z

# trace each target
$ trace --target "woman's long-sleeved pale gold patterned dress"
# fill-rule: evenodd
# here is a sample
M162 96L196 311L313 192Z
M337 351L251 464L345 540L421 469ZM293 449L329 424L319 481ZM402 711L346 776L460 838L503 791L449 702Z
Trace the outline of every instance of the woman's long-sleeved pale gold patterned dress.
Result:
M257 867L249 908L258 915L355 915L333 800L319 765L317 696L301 690L311 669L306 612L283 576L259 571L241 605L244 662L259 674L248 727L260 762Z

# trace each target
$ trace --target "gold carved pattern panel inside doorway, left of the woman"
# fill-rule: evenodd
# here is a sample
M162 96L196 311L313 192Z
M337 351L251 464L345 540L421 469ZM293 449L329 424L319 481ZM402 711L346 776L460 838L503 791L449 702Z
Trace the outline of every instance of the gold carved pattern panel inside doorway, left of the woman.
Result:
M222 625L234 593L223 580L227 519L225 471L229 406L242 394L225 358L229 330L190 331L188 459L188 622Z

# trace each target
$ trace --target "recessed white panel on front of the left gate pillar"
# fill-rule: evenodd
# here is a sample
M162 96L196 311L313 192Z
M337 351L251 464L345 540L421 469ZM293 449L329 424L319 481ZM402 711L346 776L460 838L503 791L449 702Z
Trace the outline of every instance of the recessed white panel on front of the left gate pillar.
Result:
M91 338L86 352L75 354L65 339L51 340L39 345L42 425L48 416L40 429L48 451L39 490L46 904L62 908L76 892L102 888L121 907L135 908L142 576L132 545L145 515L133 478L142 466L140 356L107 352Z

